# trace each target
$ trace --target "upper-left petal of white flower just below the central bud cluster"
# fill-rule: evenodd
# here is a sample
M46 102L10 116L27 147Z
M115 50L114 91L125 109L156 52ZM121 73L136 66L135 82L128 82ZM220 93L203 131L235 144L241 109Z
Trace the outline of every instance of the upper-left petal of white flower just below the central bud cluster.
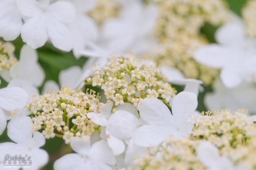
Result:
M147 98L139 102L140 116L146 123L156 126L168 126L172 119L168 107L159 99Z

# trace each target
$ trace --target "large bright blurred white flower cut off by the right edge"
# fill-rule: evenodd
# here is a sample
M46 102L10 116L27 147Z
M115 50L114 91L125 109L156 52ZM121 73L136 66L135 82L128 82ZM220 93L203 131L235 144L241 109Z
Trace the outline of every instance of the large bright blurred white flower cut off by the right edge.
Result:
M244 36L242 23L228 23L215 36L219 44L199 48L195 59L207 66L221 68L221 80L228 88L238 86L243 80L255 81L256 40Z

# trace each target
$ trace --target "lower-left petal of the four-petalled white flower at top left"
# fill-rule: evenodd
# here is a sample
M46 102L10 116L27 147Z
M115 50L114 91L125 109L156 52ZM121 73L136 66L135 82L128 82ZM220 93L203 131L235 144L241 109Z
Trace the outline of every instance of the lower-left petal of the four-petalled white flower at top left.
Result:
M48 35L44 15L36 15L24 23L22 39L34 49L46 43Z

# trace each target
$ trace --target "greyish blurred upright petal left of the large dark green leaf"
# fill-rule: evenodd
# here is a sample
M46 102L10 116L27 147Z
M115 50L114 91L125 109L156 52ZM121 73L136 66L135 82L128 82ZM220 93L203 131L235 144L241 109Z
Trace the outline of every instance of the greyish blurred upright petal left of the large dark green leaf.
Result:
M33 85L40 86L44 82L45 71L37 63L37 60L36 50L29 45L23 45L22 50L20 50L18 75Z

